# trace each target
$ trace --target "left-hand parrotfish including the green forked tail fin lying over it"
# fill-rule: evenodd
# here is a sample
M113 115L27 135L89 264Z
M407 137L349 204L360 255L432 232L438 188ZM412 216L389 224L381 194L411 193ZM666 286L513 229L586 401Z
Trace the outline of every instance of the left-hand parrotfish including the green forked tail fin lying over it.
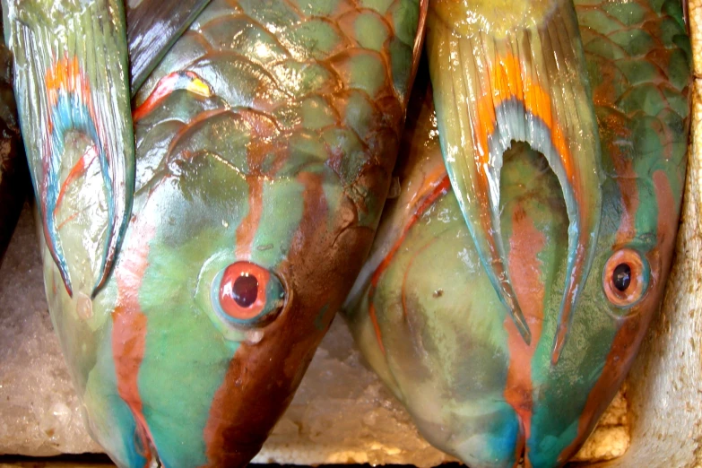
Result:
M426 2L4 6L93 438L119 466L247 464L368 254Z

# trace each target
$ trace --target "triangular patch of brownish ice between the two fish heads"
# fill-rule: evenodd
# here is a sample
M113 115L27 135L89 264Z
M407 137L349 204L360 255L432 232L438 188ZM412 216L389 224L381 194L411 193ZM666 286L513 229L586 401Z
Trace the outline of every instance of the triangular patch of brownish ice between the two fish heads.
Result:
M254 462L435 466L452 460L420 438L409 414L364 365L337 316Z

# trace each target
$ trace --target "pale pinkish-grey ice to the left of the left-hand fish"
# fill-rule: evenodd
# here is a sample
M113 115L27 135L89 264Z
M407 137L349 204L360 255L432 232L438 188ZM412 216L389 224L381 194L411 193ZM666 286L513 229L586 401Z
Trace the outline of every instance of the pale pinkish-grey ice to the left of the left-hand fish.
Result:
M0 266L0 454L100 451L88 437L48 316L25 206Z

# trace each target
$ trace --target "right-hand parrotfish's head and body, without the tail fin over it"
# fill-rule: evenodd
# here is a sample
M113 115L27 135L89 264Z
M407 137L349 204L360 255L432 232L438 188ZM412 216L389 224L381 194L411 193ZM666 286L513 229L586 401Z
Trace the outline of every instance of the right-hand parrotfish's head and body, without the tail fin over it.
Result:
M456 125L432 105L460 106L450 89L440 91L447 99L438 97L448 65L432 75L433 103L423 91L427 78L418 77L413 133L404 135L397 170L400 195L388 204L344 307L365 357L424 437L472 468L516 466L521 458L525 466L554 467L575 455L626 377L671 265L689 137L691 53L682 8L672 0L584 0L575 13L601 149L601 183L588 189L601 192L602 211L559 359L552 351L567 277L565 189L542 155L512 143L496 212L501 260L529 343L464 221L458 201L476 203L475 193L470 186L437 191L448 179L438 135L446 132L449 164L446 148L461 148L451 139ZM500 19L491 21L502 34ZM510 117L520 109L500 111ZM618 264L632 272L619 296L611 276Z

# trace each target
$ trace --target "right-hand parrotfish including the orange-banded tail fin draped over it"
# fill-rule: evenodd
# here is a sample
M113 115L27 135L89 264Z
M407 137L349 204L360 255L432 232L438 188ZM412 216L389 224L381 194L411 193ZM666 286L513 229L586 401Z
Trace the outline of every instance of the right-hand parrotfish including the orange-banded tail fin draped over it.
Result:
M427 28L433 91L418 78L400 195L344 309L430 443L472 468L561 466L663 298L689 137L682 8L436 0Z

